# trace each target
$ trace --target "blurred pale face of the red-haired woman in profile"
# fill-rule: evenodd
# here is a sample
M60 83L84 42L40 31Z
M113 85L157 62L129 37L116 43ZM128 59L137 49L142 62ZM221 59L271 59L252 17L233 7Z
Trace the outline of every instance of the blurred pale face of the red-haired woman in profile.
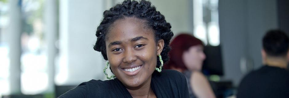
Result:
M204 47L202 45L195 45L184 51L183 62L188 70L201 70L203 61L206 55L203 52Z

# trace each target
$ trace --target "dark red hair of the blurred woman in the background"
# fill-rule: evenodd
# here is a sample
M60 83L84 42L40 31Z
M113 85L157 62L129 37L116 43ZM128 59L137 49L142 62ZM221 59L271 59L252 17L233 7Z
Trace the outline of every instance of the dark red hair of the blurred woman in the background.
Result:
M197 39L194 36L189 34L180 34L176 36L170 43L170 47L172 48L169 51L169 62L164 66L164 69L180 68L186 70L187 67L183 62L183 53L187 51L190 47L195 45L204 46L203 42L200 39Z

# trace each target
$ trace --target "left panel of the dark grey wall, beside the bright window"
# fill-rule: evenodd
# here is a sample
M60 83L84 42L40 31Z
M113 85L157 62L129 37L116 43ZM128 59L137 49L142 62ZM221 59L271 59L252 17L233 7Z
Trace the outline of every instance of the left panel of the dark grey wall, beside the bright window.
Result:
M222 0L219 2L220 43L222 45L223 80L240 81L240 60L246 57L246 2Z

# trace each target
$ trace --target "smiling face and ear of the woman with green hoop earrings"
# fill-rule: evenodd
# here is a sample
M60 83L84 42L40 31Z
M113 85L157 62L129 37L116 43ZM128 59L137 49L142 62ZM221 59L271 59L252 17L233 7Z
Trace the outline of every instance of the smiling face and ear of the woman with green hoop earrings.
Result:
M157 55L164 40L155 42L154 32L143 20L125 17L115 21L106 35L111 70L128 89L150 85Z

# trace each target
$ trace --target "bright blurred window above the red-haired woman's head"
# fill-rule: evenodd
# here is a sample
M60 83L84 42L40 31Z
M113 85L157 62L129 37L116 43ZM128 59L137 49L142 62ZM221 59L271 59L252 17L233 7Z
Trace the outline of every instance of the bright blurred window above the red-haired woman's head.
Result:
M220 44L218 0L193 0L194 36L205 45Z

